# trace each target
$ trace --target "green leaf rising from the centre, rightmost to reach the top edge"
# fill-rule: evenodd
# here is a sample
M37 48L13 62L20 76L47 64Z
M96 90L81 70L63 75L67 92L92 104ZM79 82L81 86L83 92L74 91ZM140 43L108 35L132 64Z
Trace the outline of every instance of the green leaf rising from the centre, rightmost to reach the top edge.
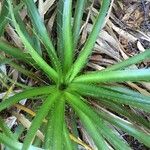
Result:
M67 80L69 78L69 81L72 81L74 77L80 72L80 70L85 66L89 55L92 53L92 48L94 47L97 36L99 35L99 32L101 31L103 27L103 23L104 23L105 17L109 9L109 5L110 5L110 0L103 0L101 9L96 19L96 22L94 24L93 30L90 33L73 67L69 71ZM71 76L70 76L70 72L71 72Z

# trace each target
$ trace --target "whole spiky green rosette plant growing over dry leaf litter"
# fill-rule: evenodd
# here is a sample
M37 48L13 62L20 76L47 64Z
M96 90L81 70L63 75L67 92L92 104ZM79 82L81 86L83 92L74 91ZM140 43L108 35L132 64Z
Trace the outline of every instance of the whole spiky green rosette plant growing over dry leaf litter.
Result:
M28 102L33 98L36 102L39 96L42 99L35 117L29 118L31 126L24 132L22 141L0 119L0 142L8 149L79 149L78 144L70 139L70 133L82 139L80 128L93 141L94 147L91 146L91 149L132 149L121 133L150 147L150 124L144 116L137 113L150 112L150 96L122 84L127 81L150 81L149 68L128 68L150 59L150 50L101 71L84 69L103 28L111 0L101 1L92 31L81 48L78 47L78 42L85 3L86 0L57 1L56 35L50 38L33 0L23 0L19 5L11 0L3 2L1 35L5 31L6 22L9 22L20 37L24 50L1 38L0 51L5 54L5 57L1 55L1 62L12 65L28 78L34 75L39 84L32 87L26 85L21 92L2 100L0 111L13 107L22 99L27 99ZM30 28L27 28L19 15L19 11L25 7L30 16ZM24 71L19 64L26 67ZM41 72L45 85L31 70ZM47 120L46 123L44 119ZM39 129L44 134L44 140L36 146Z

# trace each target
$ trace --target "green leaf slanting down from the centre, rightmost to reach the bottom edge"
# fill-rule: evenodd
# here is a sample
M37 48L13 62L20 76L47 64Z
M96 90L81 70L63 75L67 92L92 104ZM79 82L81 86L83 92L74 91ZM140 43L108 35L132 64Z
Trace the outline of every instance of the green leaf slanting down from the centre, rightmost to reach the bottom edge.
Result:
M69 104L72 105L72 107L77 111L77 113L78 111L80 111L83 114L85 114L83 119L85 120L90 119L90 122L92 122L92 124L97 128L98 130L97 133L100 133L103 137L105 137L107 141L111 143L116 149L119 149L119 150L130 149L129 145L125 143L125 141L121 139L119 135L117 135L114 132L114 130L110 128L110 125L108 126L108 123L104 122L104 120L102 120L90 106L84 103L79 97L70 95L68 93L67 93L67 97L68 97ZM92 131L89 130L89 132L92 132ZM95 135L97 133L95 133Z

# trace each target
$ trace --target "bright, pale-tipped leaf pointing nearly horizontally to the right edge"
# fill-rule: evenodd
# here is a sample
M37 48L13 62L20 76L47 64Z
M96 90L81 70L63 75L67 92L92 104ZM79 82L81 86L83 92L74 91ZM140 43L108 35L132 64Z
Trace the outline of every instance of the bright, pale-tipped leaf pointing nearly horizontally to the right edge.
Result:
M124 81L150 81L150 69L133 69L117 71L95 71L76 77L74 82L100 83Z

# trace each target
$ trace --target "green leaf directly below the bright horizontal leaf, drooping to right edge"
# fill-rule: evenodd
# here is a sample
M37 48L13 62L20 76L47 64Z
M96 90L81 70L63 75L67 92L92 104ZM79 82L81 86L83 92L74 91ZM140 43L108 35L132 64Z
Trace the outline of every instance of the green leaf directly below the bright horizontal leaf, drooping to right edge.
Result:
M105 99L107 101L113 101L119 104L126 104L144 111L150 112L150 97L141 95L140 97L127 95L126 93L120 93L113 90L108 90L105 87L88 85L88 84L77 84L74 83L70 86L73 91L77 91L81 95L91 96L98 100Z

